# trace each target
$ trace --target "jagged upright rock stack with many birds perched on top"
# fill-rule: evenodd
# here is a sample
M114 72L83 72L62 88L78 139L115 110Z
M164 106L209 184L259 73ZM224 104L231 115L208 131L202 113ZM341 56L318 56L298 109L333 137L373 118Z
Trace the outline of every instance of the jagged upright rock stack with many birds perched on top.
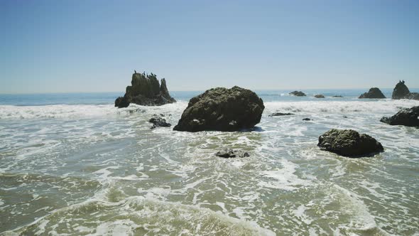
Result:
M131 86L126 87L124 97L116 98L115 107L128 107L131 102L143 106L160 106L176 100L170 97L164 78L160 85L153 73L151 75L134 73Z

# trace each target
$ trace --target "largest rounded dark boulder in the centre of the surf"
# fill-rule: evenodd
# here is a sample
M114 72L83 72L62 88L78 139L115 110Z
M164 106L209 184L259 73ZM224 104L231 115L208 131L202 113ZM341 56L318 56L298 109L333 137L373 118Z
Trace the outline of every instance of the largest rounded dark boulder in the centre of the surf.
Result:
M192 97L173 130L238 131L261 121L263 101L251 90L217 87Z

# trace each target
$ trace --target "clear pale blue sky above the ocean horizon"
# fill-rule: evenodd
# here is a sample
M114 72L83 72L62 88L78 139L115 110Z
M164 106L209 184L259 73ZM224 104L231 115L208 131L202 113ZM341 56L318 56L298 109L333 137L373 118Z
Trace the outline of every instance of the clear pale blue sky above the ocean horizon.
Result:
M0 93L419 87L419 1L0 0Z

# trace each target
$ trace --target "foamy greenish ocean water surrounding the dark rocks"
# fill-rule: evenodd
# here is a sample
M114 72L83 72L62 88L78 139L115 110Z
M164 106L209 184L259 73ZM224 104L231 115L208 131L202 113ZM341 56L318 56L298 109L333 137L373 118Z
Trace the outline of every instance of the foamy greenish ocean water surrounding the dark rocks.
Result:
M256 92L266 109L254 131L198 133L147 121L165 114L174 126L200 92L123 109L117 92L0 95L0 235L418 235L419 129L379 119L419 101ZM320 151L332 128L370 134L385 152ZM225 147L251 156L214 156Z

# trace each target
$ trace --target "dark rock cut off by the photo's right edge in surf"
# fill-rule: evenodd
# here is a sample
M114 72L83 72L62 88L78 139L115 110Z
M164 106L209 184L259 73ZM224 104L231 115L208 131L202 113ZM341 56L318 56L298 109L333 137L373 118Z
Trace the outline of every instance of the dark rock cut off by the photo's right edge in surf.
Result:
M401 109L392 117L383 117L380 122L391 125L404 125L407 127L419 127L419 106Z

